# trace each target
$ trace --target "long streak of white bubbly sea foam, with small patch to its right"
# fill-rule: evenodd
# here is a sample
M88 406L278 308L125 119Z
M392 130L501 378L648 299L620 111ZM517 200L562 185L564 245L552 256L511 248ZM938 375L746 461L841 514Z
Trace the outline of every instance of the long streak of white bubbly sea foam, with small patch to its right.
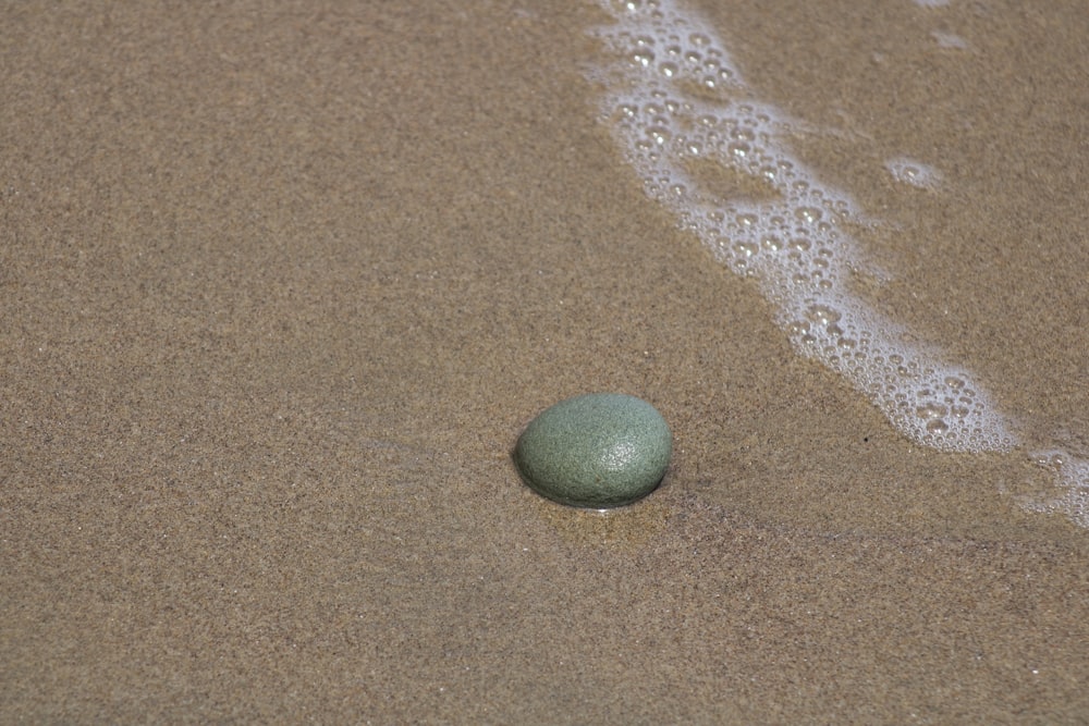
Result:
M844 223L862 214L791 153L782 139L794 125L750 97L714 32L672 0L605 8L616 22L597 33L616 62L591 75L647 194L758 282L795 350L847 379L903 433L943 451L1011 448L967 371L852 294L861 254ZM917 162L890 164L917 186L940 179Z

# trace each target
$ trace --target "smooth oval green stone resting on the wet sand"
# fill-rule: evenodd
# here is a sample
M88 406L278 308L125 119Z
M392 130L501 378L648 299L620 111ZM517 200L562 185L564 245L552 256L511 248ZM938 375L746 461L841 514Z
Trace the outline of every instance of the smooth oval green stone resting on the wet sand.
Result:
M658 409L622 393L561 401L518 438L514 463L537 493L579 507L631 504L665 476L673 435Z

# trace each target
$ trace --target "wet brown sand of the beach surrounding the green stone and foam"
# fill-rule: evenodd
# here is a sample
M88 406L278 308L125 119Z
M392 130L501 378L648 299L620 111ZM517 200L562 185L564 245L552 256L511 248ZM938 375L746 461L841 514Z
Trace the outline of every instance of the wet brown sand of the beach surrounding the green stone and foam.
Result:
M597 123L589 3L414 4L5 9L0 721L1089 719L1047 472L794 355ZM708 13L842 132L874 304L1085 454L1084 3L857 7ZM507 458L594 390L676 440L609 516Z

